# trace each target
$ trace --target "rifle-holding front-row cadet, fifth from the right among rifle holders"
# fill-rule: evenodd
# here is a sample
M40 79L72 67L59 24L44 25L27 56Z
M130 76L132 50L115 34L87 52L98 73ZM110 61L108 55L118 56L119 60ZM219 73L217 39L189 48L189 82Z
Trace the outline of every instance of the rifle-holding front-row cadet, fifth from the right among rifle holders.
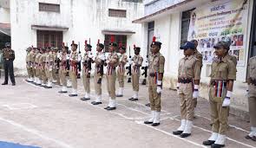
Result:
M68 93L67 75L69 73L69 47L62 44L62 54L60 56L59 74L62 81L62 90L59 93Z

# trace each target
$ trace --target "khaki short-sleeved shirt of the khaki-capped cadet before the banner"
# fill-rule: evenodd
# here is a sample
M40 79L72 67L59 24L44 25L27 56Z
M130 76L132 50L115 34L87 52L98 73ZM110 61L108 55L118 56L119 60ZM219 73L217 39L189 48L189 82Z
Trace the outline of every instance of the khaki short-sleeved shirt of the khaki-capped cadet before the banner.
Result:
M236 68L228 56L215 59L211 68L211 80L236 80Z

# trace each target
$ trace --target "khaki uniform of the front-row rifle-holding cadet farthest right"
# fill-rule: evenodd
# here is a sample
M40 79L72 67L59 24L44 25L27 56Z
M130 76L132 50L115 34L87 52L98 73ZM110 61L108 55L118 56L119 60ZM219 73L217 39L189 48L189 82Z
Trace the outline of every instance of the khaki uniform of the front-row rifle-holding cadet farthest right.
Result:
M110 53L108 55L107 61L114 62L114 66L109 66L107 67L107 89L108 89L108 96L111 98L111 100L115 100L115 80L116 80L116 72L115 68L119 64L119 57L118 55L114 53ZM112 106L111 106L112 107Z

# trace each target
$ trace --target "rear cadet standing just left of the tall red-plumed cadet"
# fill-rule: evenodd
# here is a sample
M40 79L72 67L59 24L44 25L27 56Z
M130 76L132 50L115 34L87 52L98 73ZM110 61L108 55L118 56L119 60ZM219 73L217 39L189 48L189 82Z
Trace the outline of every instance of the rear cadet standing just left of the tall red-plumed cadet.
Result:
M139 93L139 80L141 76L141 65L143 62L143 58L140 55L141 48L134 46L135 56L132 58L132 84L134 90L134 96L128 100L136 101L138 100Z

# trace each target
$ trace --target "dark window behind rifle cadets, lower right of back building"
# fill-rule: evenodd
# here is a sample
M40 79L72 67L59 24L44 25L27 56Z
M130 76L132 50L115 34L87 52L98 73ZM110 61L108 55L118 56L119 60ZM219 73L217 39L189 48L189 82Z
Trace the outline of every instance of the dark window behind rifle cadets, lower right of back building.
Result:
M119 43L125 48L127 48L127 36L126 35L113 35L115 38L115 42L119 46ZM109 43L110 43L111 35L105 35L105 52L109 52ZM128 51L128 50L127 50ZM116 49L116 52L119 53L119 48Z

